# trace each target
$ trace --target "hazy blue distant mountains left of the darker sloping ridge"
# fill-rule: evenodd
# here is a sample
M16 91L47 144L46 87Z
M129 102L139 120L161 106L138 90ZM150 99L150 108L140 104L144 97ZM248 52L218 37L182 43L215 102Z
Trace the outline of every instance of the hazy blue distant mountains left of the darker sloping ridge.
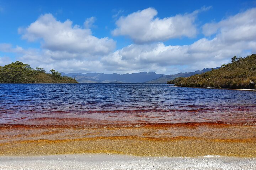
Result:
M164 74L156 74L155 72L141 72L132 74L104 74L104 73L61 73L75 78L79 83L143 83L152 79L161 77Z

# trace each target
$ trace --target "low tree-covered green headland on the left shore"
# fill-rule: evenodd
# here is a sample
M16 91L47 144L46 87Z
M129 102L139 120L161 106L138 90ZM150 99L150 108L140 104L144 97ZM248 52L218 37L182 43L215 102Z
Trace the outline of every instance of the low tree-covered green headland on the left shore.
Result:
M20 61L0 66L0 83L78 83L75 79L61 76L59 72L50 70L47 74L43 68L33 69Z

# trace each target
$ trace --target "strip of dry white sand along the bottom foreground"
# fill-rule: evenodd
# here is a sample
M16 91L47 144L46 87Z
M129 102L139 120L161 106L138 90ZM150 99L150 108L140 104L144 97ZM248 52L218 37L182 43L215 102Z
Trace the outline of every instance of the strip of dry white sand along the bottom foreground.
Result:
M77 154L40 157L0 157L0 170L255 170L256 158L233 157L135 157L129 155Z

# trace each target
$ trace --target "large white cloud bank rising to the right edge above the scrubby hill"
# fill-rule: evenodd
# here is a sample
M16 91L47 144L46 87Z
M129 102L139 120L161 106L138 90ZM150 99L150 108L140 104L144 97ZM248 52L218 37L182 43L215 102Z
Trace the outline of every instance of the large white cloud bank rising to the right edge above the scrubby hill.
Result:
M255 14L256 8L252 8L224 19L216 23L220 31L215 31L213 38L202 38L191 45L166 46L162 42L132 44L103 57L102 62L108 69L119 71L143 68L173 73L173 67L180 66L188 66L187 71L218 67L229 63L234 55L256 53ZM204 25L204 31L208 26Z

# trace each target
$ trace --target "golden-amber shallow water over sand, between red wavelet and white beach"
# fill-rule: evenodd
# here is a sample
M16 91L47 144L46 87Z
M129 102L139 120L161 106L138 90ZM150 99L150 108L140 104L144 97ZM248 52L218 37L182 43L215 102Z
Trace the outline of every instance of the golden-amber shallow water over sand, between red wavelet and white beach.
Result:
M256 158L256 126L150 125L126 128L0 128L1 156L107 153L152 157Z

